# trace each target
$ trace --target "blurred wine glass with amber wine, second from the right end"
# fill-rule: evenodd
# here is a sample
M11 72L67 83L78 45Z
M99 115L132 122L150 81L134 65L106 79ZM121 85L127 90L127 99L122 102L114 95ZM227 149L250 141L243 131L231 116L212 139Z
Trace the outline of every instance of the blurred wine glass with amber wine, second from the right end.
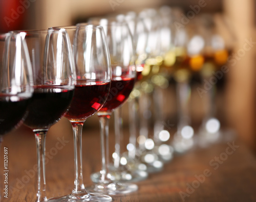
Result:
M194 129L191 127L189 114L190 80L199 72L204 64L203 49L205 41L194 18L185 28L176 30L174 79L176 81L178 104L178 127L174 135L173 145L178 153L184 153L195 144Z

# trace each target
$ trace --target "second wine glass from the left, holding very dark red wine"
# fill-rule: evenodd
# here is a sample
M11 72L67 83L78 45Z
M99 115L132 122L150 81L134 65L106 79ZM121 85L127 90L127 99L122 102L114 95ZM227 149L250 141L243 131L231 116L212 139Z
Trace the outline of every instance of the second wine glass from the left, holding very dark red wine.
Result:
M46 134L69 109L75 88L74 58L65 30L22 31L31 59L34 93L25 125L33 130L37 149L36 201L48 201L45 178ZM14 33L19 33L15 31Z

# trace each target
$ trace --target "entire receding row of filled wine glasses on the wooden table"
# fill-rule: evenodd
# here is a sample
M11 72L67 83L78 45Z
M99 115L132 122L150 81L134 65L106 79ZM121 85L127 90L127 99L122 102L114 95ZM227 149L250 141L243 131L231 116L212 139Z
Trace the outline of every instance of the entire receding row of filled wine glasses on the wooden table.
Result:
M209 79L213 70L226 63L230 47L216 33L211 16L196 17L186 26L175 28L180 13L169 7L144 9L140 13L91 18L76 26L1 35L0 121L8 124L1 127L0 135L22 121L35 133L36 201L111 201L109 195L138 190L130 181L144 180L148 173L161 171L173 158L174 150L184 153L195 145L188 113L190 80L194 75ZM168 144L171 137L163 124L162 89L172 79L177 87L178 124ZM214 92L207 95L213 104ZM127 99L131 134L128 152L123 153L121 107ZM7 107L14 104L18 110ZM201 142L212 141L219 132L218 119L210 109L202 122ZM10 119L9 110L20 113ZM109 119L113 112L116 144L112 165ZM102 167L91 175L94 184L86 187L82 127L94 114L100 123ZM73 128L74 188L68 195L47 199L45 139L51 125L62 116ZM210 130L205 131L212 120L215 122L210 122Z

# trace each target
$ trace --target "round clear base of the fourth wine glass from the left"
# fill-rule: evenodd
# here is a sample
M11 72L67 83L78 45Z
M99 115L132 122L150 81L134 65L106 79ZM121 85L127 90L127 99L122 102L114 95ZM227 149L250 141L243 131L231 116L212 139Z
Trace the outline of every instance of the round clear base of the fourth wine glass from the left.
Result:
M110 184L94 184L86 189L95 194L122 195L137 191L138 186L132 183L113 182Z

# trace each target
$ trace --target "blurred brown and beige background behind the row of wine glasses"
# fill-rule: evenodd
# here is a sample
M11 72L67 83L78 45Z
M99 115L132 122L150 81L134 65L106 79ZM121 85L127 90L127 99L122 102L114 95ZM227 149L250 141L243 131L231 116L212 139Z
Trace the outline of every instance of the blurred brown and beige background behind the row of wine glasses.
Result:
M236 64L229 64L228 73L217 84L220 89L217 94L219 119L224 127L235 130L256 154L256 0L0 0L0 33L67 26L85 22L94 16L159 8L163 5L180 8L187 14L200 4L204 5L200 7L200 14L225 15L235 36L232 56L236 58ZM244 46L248 43L251 48L243 54ZM169 90L172 90L171 86ZM193 124L197 125L203 117L202 99L196 87L192 89L192 94L190 111ZM175 123L175 98L170 95L167 100L169 118L166 121ZM126 116L127 112L124 111L124 127L127 125ZM98 127L97 117L89 118L86 125ZM67 120L61 120L52 130L65 130L65 127L71 126Z

